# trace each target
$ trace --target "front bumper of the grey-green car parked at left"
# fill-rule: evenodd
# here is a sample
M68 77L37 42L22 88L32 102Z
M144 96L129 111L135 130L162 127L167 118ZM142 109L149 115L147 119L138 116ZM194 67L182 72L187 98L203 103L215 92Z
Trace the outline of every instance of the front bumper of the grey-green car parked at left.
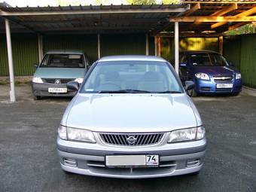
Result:
M32 82L32 92L35 96L75 96L77 93L74 90L69 90L67 93L49 93L48 88L66 88L66 84L37 84Z

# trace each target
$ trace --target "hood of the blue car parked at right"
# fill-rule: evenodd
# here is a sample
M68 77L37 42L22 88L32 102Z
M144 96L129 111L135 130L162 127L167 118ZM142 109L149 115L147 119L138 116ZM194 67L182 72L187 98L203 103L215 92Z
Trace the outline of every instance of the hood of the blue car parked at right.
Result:
M194 66L194 73L203 72L208 75L233 75L236 72L235 69L231 69L227 66Z

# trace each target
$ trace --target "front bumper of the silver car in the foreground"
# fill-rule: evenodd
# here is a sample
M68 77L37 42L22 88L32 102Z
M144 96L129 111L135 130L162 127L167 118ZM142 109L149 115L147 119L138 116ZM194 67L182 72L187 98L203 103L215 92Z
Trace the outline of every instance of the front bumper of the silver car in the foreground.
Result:
M123 148L57 139L59 162L63 170L82 175L110 178L155 178L199 172L206 153L206 139L151 147ZM160 165L151 168L109 168L105 155L158 154ZM75 166L67 163L75 161ZM188 162L196 161L192 166Z

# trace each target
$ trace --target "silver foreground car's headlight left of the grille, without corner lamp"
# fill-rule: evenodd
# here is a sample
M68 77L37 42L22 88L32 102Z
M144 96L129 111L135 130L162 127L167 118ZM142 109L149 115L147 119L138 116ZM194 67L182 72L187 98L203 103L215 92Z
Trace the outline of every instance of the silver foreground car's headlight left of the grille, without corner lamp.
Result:
M67 136L68 140L93 143L96 142L93 133L88 130L67 127Z

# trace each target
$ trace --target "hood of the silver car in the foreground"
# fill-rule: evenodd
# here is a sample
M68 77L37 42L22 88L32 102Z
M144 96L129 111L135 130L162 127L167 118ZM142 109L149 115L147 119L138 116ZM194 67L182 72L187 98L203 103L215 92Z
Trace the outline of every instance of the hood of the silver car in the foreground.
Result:
M198 125L200 116L191 102L185 93L78 93L61 123L95 132L167 132Z

